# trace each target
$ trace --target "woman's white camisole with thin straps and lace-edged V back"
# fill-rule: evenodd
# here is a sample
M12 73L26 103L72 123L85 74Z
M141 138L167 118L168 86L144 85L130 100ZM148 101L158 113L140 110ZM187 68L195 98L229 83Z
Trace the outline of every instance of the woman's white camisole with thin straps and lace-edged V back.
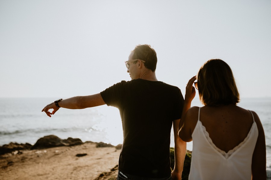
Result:
M258 138L258 128L254 121L251 129L243 142L234 149L225 152L217 148L209 137L206 128L199 117L192 133L193 151L189 173L189 180L212 179L251 179L251 162L254 148Z

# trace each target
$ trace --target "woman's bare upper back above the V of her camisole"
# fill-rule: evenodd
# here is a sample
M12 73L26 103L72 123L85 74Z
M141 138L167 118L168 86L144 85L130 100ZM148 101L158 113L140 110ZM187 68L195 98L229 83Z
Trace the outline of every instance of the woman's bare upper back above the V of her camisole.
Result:
M248 136L253 117L250 111L235 105L204 106L200 111L200 121L214 145L229 152Z

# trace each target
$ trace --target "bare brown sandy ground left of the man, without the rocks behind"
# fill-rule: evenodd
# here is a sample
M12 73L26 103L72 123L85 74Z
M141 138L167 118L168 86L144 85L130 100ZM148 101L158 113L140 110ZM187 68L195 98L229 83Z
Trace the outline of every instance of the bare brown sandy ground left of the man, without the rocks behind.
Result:
M0 179L115 179L119 155L96 143L15 151L0 156Z

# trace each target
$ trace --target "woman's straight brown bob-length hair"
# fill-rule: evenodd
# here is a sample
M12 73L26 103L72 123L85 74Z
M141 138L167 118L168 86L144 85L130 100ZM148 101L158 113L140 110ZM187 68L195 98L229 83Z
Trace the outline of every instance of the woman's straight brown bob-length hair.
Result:
M198 93L206 106L237 104L239 93L229 65L210 59L198 71Z

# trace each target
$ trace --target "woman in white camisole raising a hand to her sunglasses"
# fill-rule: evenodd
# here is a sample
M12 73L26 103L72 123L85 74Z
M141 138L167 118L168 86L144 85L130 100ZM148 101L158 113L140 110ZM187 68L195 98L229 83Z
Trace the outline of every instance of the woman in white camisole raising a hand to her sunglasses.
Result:
M204 107L192 107L192 77L185 94L179 137L193 140L189 179L265 179L266 147L257 114L236 106L239 93L232 70L220 59L207 61L195 87Z

